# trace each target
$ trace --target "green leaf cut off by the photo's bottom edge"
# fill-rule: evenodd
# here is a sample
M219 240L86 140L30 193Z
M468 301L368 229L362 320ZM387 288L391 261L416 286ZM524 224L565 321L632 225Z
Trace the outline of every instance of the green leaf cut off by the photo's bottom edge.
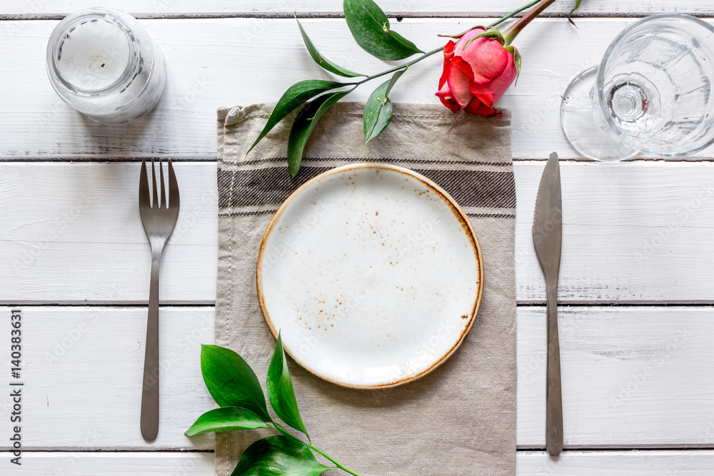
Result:
M250 445L231 476L319 476L332 469L318 463L304 443L276 435Z

